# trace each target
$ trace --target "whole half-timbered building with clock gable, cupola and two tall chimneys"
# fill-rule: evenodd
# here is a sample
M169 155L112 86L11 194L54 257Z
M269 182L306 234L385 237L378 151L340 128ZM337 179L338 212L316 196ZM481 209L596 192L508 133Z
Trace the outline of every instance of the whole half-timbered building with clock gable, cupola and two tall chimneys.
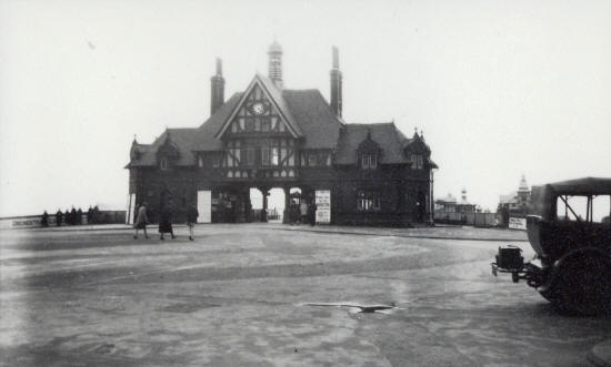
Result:
M164 205L183 221L194 204L200 222L248 222L251 187L263 193L263 208L271 188L284 190L288 208L290 190L299 187L302 197L330 196L331 223L431 222L437 166L422 135L407 137L392 122L343 121L335 48L330 103L318 90L286 89L281 47L272 43L268 54L269 77L254 75L227 101L217 60L211 115L201 126L167 129L152 144L133 141L130 216L148 202L152 221Z

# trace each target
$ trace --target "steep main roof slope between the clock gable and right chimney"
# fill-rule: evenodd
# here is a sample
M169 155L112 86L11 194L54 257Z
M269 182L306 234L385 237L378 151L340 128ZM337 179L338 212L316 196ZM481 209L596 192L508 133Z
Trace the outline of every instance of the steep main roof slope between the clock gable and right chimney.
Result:
M282 100L306 137L303 149L337 149L341 121L315 89L284 90Z

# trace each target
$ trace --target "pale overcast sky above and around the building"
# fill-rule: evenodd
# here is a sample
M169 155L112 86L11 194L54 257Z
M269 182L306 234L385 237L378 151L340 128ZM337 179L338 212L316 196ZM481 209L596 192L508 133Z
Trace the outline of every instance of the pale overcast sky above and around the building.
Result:
M435 196L494 210L529 184L611 176L611 1L0 1L0 215L124 208L133 134L196 128L267 74L348 122L424 131Z

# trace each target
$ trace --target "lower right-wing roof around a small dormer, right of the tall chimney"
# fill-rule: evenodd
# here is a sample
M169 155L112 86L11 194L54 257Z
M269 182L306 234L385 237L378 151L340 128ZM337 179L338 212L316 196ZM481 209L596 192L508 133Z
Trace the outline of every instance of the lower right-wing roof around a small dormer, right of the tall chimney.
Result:
M399 130L393 122L371 123L371 124L345 124L341 129L335 154L335 164L355 164L357 149L359 144L367 139L368 132L382 149L382 154L378 159L381 164L408 163L403 152L404 135L398 134Z

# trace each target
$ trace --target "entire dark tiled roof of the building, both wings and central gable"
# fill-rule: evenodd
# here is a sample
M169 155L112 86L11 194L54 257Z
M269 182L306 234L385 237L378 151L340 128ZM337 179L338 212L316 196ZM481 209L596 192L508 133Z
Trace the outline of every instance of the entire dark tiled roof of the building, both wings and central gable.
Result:
M420 139L407 137L392 122L345 124L333 113L320 91L282 90L269 78L257 74L246 92L234 93L199 128L169 129L152 144L137 144L141 152L140 159L131 161L128 167L156 165L158 149L164 143L168 133L179 151L177 165L194 165L193 152L222 150L223 143L219 137L254 85L261 88L282 114L293 135L300 137L302 149L333 150L335 164L355 164L357 149L367 139L368 132L381 147L380 164L409 163L404 150L415 142L428 147ZM432 161L429 162L437 167Z

